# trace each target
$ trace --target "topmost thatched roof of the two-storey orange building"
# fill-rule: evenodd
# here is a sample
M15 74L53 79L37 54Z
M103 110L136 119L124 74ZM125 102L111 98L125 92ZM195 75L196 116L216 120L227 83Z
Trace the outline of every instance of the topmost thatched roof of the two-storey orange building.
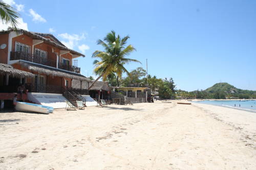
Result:
M0 34L6 34L6 33L10 33L14 31L13 29L10 29L10 30L7 30L7 31L1 31ZM22 34L25 34L29 37L32 37L33 39L38 39L38 40L43 40L46 44L49 44L49 45L53 45L57 48L59 48L60 50L66 50L66 51L69 51L71 54L74 54L74 55L78 55L78 56L82 56L82 57L86 57L84 56L83 54L79 53L79 52L76 52L74 50L71 50L70 48L68 48L67 46L59 43L59 42L55 42L55 41L52 41L51 39L49 38L45 38L43 37L42 33L39 34L39 33L34 33L34 32L30 32L30 31L26 31L26 30L22 30L22 29L17 29L16 31L17 33L22 33Z

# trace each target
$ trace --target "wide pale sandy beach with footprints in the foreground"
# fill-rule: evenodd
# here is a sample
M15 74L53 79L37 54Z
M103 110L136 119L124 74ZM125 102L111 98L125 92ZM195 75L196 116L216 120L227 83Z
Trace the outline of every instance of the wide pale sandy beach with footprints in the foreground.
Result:
M177 101L0 113L0 169L256 169L256 114Z

